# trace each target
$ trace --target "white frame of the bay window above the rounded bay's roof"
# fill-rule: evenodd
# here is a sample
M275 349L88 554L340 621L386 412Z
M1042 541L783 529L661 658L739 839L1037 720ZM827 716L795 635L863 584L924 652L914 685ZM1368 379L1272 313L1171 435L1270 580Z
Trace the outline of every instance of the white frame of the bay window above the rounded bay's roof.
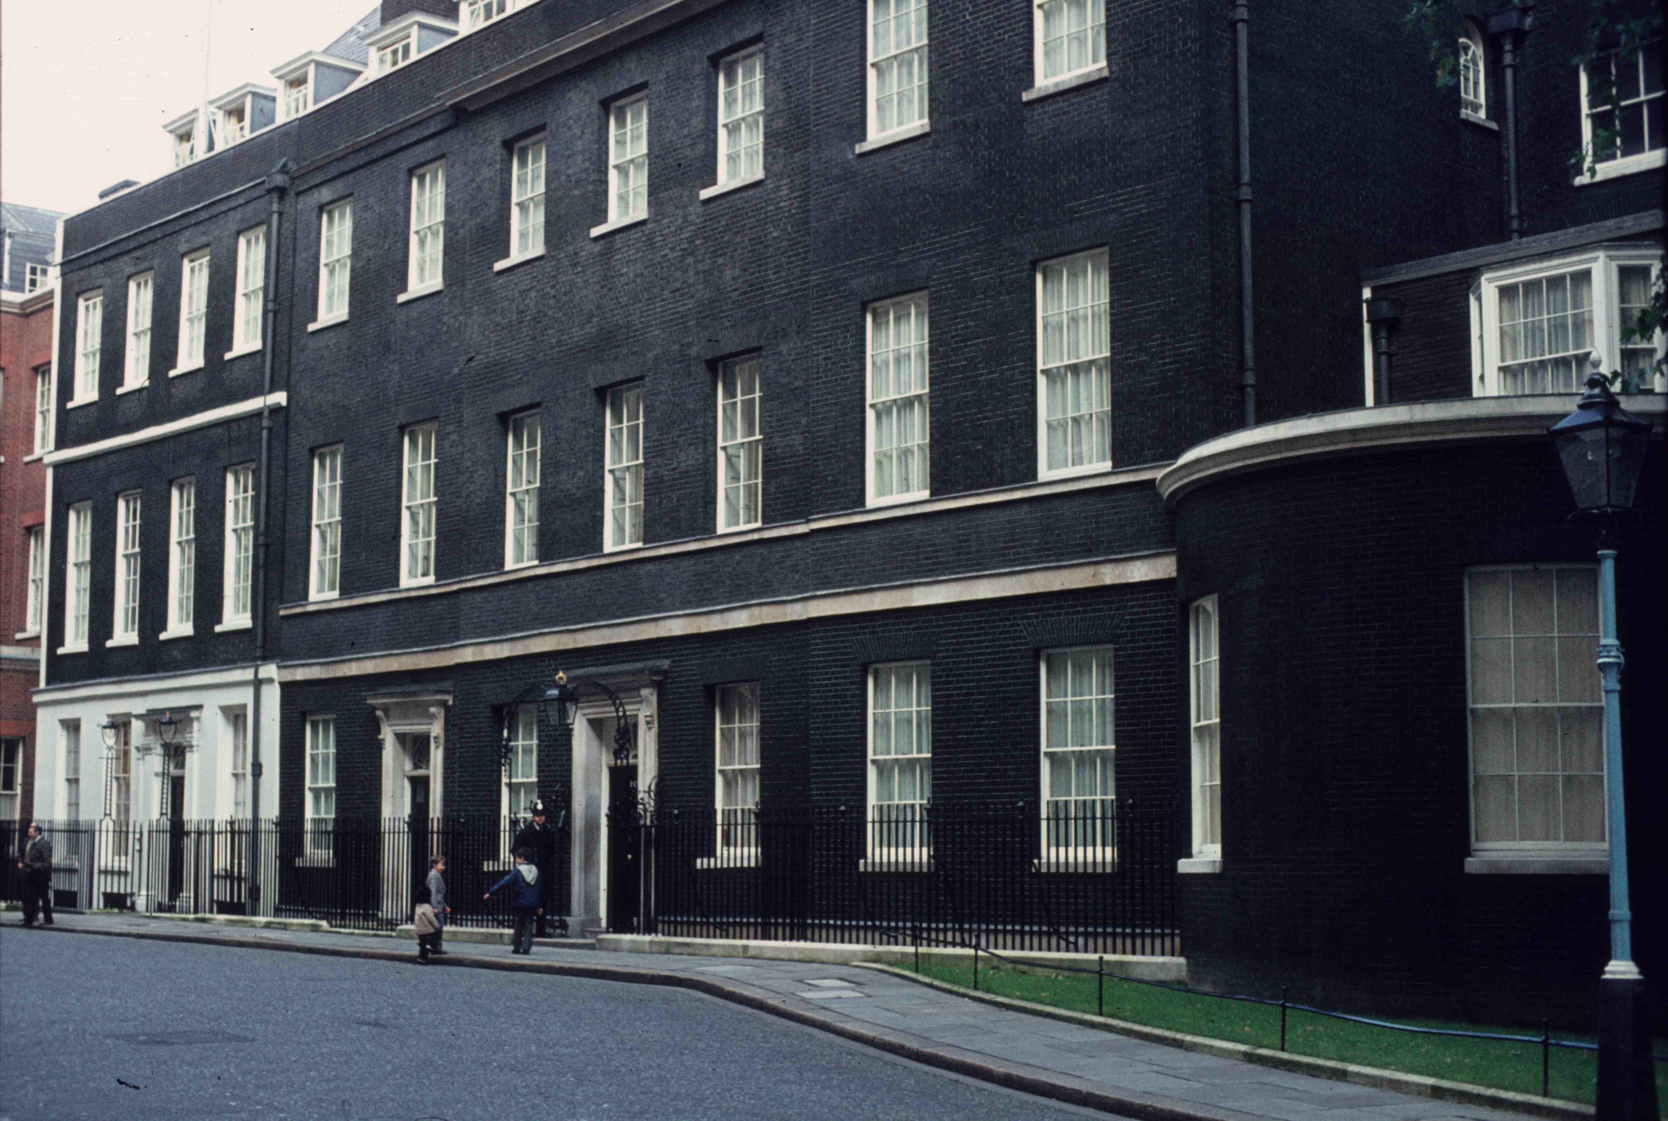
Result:
M1475 397L1500 397L1500 289L1523 280L1551 277L1580 269L1591 270L1593 277L1593 330L1591 349L1603 359L1605 372L1621 369L1621 330L1620 322L1621 284L1618 269L1621 265L1650 265L1651 280L1661 274L1661 247L1650 244L1610 244L1595 245L1580 254L1565 257L1521 262L1506 269L1483 274L1480 282L1481 302L1481 347L1473 369L1471 392ZM1668 349L1668 332L1656 334L1656 357L1663 357ZM1628 344L1640 345L1640 344ZM1586 369L1578 370L1578 382L1586 379ZM1656 377L1656 392L1668 390L1661 375ZM1580 389L1573 392L1581 392Z

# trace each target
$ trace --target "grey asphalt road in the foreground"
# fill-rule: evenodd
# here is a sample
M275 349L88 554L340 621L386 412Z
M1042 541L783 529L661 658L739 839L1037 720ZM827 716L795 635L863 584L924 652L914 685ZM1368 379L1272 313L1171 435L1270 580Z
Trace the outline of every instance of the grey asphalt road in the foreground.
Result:
M681 989L0 931L0 1121L1091 1116Z

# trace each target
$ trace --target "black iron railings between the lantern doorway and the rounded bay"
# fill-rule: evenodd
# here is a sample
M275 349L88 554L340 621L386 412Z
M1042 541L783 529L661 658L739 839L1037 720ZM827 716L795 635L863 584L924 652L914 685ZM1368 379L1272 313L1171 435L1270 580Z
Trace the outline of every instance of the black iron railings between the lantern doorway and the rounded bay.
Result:
M1168 807L667 811L610 817L636 906L612 929L676 938L1181 953ZM622 922L624 919L624 922Z

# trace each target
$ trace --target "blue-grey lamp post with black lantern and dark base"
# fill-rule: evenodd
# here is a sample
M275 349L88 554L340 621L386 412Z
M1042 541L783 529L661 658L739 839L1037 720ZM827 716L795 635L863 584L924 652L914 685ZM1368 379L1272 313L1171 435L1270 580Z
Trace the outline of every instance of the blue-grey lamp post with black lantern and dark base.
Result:
M1605 689L1605 786L1610 812L1610 964L1598 983L1598 1121L1655 1121L1656 1073L1645 1008L1645 978L1633 963L1628 909L1628 819L1621 774L1621 642L1616 639L1618 517L1633 495L1651 439L1650 420L1616 404L1593 374L1576 410L1548 429L1576 512L1598 522L1598 674Z

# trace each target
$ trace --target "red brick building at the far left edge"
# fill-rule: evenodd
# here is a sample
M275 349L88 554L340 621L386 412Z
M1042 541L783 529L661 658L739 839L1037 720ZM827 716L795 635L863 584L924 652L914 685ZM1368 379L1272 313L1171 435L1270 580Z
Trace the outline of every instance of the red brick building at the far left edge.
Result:
M50 279L58 214L0 205L0 821L35 811L35 702L52 447Z

